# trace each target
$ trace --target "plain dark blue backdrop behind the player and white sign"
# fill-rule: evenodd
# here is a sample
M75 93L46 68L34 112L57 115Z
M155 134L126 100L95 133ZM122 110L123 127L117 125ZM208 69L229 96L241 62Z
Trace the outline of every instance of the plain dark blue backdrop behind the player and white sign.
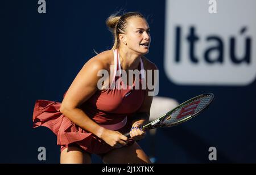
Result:
M77 72L97 52L110 49L105 20L113 12L141 11L151 27L147 54L159 68L159 95L180 103L213 92L214 103L199 118L159 129L157 163L210 163L208 148L217 148L217 163L255 163L255 82L236 86L177 86L163 69L164 1L1 2L1 159L0 163L59 163L56 136L46 127L32 129L35 100L61 101ZM253 48L255 49L255 47ZM150 137L139 142L150 154ZM47 160L38 160L38 147ZM94 163L101 163L93 157Z

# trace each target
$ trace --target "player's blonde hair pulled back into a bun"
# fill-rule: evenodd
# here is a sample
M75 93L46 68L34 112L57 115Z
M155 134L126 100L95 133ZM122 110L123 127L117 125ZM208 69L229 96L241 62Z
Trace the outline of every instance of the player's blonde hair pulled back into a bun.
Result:
M145 19L140 12L127 12L119 16L117 13L110 15L109 18L106 19L106 25L108 26L109 31L112 32L114 37L114 45L112 47L112 50L119 48L120 41L118 35L121 33L125 33L128 19L130 19L131 17L139 17Z

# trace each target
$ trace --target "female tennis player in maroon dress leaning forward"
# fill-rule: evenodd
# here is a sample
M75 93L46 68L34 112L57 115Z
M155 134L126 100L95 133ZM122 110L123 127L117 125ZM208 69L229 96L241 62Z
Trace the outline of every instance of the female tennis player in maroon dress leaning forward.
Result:
M128 75L129 70L157 69L144 57L150 47L150 28L140 12L111 15L106 25L114 35L112 50L85 63L62 103L36 101L34 127L46 126L57 135L60 163L91 163L92 153L104 163L150 163L136 140L146 134L141 126L148 122L152 96L148 88L134 88L149 79L145 74ZM103 82L102 70L109 73ZM128 76L123 78L121 70ZM151 77L154 82L154 74ZM131 84L126 84L130 78ZM123 135L129 131L131 139Z

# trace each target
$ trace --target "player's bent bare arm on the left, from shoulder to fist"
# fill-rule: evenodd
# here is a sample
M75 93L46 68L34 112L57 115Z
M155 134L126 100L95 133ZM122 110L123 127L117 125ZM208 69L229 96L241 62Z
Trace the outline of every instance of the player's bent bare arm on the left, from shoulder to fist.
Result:
M65 94L60 112L73 123L98 136L98 138L101 138L110 146L121 147L126 144L126 136L118 131L104 129L104 127L98 125L80 109L80 105L97 91L97 82L101 78L97 76L98 71L109 69L106 63L101 61L100 57L102 56L104 54L98 54L85 63Z

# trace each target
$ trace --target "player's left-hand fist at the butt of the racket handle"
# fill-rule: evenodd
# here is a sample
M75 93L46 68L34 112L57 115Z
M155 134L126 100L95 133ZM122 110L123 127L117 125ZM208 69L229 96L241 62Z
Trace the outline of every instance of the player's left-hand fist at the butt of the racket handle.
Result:
M127 136L122 135L118 131L108 129L104 129L104 131L102 131L101 139L114 148L121 148L128 142Z

